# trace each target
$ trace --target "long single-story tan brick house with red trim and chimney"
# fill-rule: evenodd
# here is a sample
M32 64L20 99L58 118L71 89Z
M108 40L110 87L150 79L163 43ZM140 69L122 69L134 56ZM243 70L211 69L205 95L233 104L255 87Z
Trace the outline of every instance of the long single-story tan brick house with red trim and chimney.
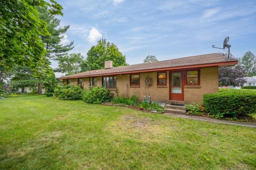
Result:
M150 95L152 101L202 103L204 94L218 92L218 67L235 64L237 59L227 59L222 53L119 67L113 67L112 61L106 61L105 69L59 79L65 84L84 88L103 86L114 93L118 88L119 96L137 95L140 100Z

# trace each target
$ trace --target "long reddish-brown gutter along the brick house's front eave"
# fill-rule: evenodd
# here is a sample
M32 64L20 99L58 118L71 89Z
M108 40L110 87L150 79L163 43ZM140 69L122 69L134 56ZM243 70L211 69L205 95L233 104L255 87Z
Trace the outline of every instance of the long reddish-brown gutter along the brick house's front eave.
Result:
M161 69L147 69L147 70L137 70L137 71L126 71L126 72L116 72L116 73L106 73L106 74L93 74L93 75L79 75L74 77L60 77L59 80L63 79L75 79L75 78L89 78L89 77L100 77L106 75L117 75L117 74L132 74L132 73L145 73L145 72L156 72L156 71L170 71L170 70L181 70L181 69L195 69L200 67L212 67L212 66L229 66L235 65L238 61L220 62L220 63L209 63L209 64L196 64L196 65L185 65L176 67L165 67Z

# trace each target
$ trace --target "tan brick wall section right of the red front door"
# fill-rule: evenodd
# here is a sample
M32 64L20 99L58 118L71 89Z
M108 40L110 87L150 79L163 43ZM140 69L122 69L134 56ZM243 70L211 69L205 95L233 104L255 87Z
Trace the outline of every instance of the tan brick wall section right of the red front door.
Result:
M211 94L219 90L218 67L200 70L201 88L184 88L185 103L202 103L204 94Z

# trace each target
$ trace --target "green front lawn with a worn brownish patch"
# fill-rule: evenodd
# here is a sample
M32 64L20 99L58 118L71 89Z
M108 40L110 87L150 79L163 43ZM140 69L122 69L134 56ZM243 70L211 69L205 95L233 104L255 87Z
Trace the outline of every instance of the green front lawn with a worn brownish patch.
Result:
M0 169L256 168L255 128L45 96L0 108Z

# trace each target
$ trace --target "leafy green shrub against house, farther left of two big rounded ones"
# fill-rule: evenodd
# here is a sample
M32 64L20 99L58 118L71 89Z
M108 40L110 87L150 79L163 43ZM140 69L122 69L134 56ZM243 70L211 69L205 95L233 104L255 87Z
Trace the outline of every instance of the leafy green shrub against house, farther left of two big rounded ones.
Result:
M81 100L83 90L79 86L57 85L54 89L54 97L60 100Z

